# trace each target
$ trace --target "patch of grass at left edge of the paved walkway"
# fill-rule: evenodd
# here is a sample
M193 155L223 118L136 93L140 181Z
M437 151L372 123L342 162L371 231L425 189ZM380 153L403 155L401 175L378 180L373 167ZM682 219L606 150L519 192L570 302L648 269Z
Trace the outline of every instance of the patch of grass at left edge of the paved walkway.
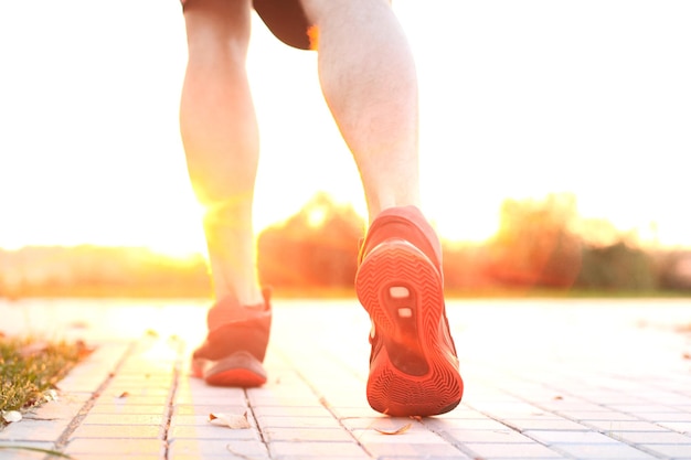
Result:
M0 335L0 414L25 411L50 399L50 391L88 353L81 341L44 342ZM0 429L4 425L0 417Z

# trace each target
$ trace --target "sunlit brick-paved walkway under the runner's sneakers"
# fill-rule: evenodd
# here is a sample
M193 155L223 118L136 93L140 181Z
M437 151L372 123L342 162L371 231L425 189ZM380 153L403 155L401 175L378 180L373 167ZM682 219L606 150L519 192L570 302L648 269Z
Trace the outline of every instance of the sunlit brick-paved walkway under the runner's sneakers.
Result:
M690 301L453 301L448 313L464 402L414 420L366 404L369 320L355 301L276 301L269 382L247 391L189 376L201 303L0 302L6 333L98 345L0 446L79 460L691 459Z

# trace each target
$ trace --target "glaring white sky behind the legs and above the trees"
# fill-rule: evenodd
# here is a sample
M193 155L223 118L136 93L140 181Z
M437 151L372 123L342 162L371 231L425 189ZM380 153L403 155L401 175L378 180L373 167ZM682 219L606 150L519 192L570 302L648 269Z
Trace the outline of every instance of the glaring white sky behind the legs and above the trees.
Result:
M507 196L573 192L586 217L691 246L691 2L394 7L419 73L424 207L444 236L489 236ZM364 212L315 53L255 25L257 227L320 190ZM185 53L177 0L3 4L0 247L203 248L178 130Z

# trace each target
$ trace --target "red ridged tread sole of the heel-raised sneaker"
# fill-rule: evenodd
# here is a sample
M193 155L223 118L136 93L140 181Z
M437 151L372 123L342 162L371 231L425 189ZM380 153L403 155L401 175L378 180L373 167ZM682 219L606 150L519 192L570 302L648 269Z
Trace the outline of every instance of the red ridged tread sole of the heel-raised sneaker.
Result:
M391 297L392 287L411 292L411 327L397 313L401 303ZM463 379L440 331L445 327L442 278L427 257L404 240L386 240L363 260L355 290L385 343L371 363L368 400L372 408L392 416L429 416L456 407ZM402 370L396 365L401 353L410 360L417 356L426 372Z

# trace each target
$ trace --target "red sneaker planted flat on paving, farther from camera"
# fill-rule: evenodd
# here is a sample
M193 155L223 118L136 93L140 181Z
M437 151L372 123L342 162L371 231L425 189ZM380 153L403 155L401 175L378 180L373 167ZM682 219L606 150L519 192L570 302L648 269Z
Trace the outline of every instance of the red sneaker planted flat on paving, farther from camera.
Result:
M272 325L270 291L264 303L243 307L227 297L206 317L206 341L192 355L192 375L209 385L252 387L266 383L262 366Z

